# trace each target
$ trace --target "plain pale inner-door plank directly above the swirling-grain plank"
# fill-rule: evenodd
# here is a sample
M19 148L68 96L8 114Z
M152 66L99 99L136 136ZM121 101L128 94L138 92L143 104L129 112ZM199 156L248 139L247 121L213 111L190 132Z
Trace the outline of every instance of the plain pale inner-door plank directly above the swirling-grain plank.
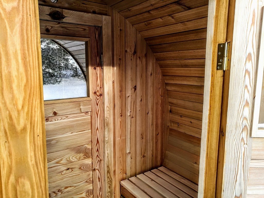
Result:
M83 131L54 138L47 138L46 143L47 153L91 144L91 131Z

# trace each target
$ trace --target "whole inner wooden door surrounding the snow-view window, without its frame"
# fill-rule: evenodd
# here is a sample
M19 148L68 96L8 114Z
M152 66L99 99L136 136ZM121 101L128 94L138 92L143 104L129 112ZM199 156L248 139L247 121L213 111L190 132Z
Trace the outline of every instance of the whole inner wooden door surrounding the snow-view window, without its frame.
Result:
M44 102L49 197L103 197L104 107L101 27L40 20L40 33L41 37L58 42L59 40L85 42L86 65L83 73L88 82L89 95ZM83 52L79 53L81 50L83 49L76 47L69 53L79 61L83 59L83 57L78 59L80 54L83 55Z

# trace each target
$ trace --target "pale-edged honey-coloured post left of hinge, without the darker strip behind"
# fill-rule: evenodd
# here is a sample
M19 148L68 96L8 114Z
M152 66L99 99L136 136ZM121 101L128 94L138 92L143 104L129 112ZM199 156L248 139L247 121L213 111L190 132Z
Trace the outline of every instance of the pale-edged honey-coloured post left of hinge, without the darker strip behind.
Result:
M209 0L204 107L198 197L215 197L223 71L216 70L218 43L226 41L228 0Z

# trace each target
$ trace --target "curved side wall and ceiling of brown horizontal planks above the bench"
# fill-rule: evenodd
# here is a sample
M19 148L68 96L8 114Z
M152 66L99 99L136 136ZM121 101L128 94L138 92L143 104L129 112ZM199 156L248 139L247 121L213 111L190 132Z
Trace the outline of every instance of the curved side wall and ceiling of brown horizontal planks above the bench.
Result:
M163 166L198 183L208 0L106 2L145 39L161 68L170 105Z

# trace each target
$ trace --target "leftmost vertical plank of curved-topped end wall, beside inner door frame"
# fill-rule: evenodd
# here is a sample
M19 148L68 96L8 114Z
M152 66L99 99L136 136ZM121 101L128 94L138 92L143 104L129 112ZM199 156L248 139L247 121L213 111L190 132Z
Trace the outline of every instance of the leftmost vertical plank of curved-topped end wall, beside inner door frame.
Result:
M126 92L125 18L113 10L115 81L115 196L120 197L120 181L126 179Z

